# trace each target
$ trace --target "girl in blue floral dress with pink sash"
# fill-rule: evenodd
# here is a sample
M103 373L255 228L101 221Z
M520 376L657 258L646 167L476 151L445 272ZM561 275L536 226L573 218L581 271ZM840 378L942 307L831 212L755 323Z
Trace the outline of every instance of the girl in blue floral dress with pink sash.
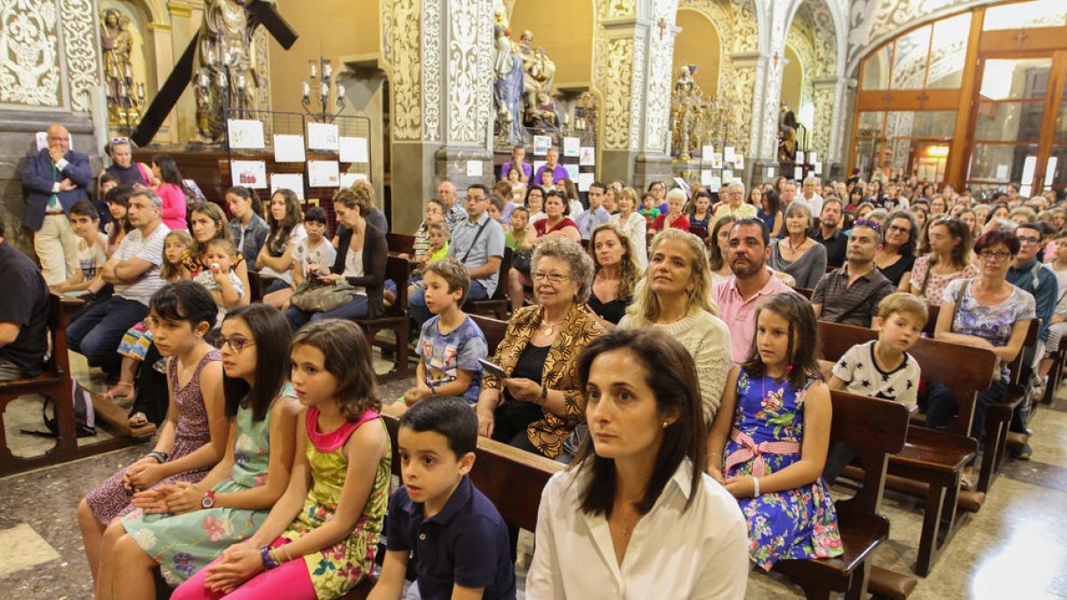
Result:
M842 553L833 499L822 478L830 443L830 391L816 360L815 313L778 294L757 312L752 352L734 367L708 438L710 473L740 504L749 557Z

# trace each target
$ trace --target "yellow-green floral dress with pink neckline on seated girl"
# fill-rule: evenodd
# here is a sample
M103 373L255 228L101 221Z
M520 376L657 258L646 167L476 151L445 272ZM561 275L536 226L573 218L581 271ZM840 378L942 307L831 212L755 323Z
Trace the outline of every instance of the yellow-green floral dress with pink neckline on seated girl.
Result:
M345 474L348 471L345 443L353 431L367 422L372 422L370 426L385 429L381 416L370 410L364 412L356 421L349 421L329 432L319 431L318 421L319 410L315 407L307 409L304 420L306 436L304 452L312 469L312 489L307 492L300 515L272 546L294 541L334 518L341 489L345 487ZM348 594L373 569L375 550L388 508L391 475L392 453L387 451L378 462L367 504L364 505L363 515L360 516L352 533L330 548L303 556L319 600L330 600Z

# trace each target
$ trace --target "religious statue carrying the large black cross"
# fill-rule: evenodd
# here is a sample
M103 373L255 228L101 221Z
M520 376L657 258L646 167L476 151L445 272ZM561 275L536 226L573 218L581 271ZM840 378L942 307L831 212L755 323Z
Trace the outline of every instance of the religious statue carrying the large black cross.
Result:
M252 36L258 25L245 11L249 0L207 0L197 33L197 141L218 143L226 130L226 109L248 110L258 75L252 66Z

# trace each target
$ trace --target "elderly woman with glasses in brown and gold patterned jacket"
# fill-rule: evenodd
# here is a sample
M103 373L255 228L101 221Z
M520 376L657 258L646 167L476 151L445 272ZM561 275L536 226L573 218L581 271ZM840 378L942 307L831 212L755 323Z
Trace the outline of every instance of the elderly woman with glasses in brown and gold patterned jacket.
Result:
M478 433L548 458L585 410L577 357L604 328L586 311L592 258L564 238L538 244L530 262L536 304L515 311L478 395Z

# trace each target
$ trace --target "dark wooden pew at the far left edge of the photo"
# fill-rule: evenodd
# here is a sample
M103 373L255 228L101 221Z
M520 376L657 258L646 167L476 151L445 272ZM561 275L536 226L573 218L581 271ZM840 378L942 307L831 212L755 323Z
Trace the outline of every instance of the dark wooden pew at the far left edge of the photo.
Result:
M48 300L48 330L51 341L52 353L45 364L45 369L36 377L14 379L0 382L0 476L21 473L31 469L58 464L76 458L83 458L116 448L139 444L152 438L155 426L148 426L138 431L143 431L142 437L134 437L128 433L133 432L126 422L126 411L122 411L122 423L126 426L122 430L126 436L120 436L100 442L78 444L78 436L75 430L74 398L71 396L73 380L70 374L70 359L67 353L66 328L70 323L71 315L84 305L84 301L67 298L52 294ZM7 405L20 396L30 394L41 394L55 401L57 419L59 420L59 438L55 445L41 456L22 458L12 454L7 446L7 437L4 430L3 411ZM98 402L97 400L96 402ZM106 410L101 410L102 405L97 408L97 416L106 417Z

